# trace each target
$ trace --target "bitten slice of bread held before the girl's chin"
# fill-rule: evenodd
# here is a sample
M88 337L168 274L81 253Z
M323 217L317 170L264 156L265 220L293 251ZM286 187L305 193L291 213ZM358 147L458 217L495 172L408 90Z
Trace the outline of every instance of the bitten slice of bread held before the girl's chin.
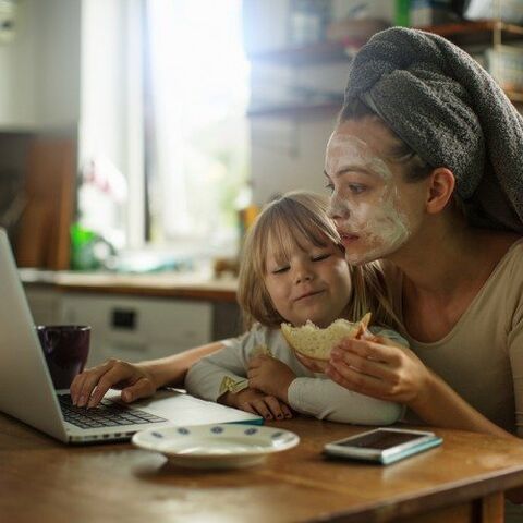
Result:
M302 327L281 324L281 332L287 342L299 354L312 360L329 361L330 351L344 338L360 338L367 331L370 313L360 321L351 323L337 319L329 327L321 329L307 320Z

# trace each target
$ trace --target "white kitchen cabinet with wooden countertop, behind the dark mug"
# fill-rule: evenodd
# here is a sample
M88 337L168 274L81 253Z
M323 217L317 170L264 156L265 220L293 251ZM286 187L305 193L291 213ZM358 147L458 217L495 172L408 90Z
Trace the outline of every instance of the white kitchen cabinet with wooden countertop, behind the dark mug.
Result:
M34 323L89 325L88 366L108 357L129 362L162 357L242 331L233 283L169 288L160 277L154 285L149 277L144 285L111 287L111 278L95 284L96 275L77 275L64 284L66 278L57 275L22 271Z

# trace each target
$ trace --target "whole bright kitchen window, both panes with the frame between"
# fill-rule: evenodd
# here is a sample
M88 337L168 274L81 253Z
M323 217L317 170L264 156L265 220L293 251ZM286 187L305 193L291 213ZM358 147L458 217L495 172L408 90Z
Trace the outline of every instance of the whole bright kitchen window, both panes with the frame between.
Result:
M235 253L248 179L241 0L82 9L81 224L119 248Z

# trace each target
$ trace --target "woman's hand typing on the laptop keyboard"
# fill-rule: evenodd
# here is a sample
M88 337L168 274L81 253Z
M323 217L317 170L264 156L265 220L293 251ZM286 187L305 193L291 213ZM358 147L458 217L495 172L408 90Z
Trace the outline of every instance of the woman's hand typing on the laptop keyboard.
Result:
M71 399L77 406L96 406L110 388L121 389L122 401L130 403L153 396L158 387L145 365L111 358L78 374L71 384Z

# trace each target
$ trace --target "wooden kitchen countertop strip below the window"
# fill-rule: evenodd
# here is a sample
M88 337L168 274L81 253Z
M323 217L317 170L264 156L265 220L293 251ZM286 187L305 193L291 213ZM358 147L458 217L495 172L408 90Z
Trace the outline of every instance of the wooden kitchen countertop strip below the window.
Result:
M238 280L192 272L123 275L113 272L49 271L22 268L24 285L51 287L61 292L129 294L235 302Z

